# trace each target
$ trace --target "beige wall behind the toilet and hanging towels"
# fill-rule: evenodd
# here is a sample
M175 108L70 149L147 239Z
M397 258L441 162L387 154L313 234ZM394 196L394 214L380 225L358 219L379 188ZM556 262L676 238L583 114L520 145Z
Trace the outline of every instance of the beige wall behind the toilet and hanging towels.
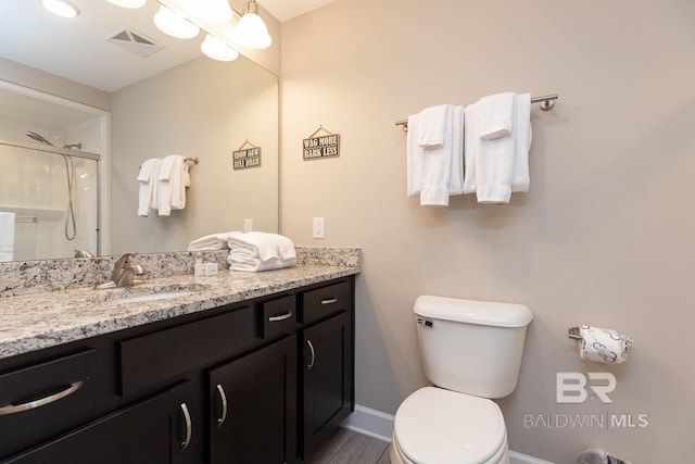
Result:
M302 246L364 250L357 403L394 413L426 384L421 293L513 301L535 315L510 448L573 463L591 447L634 463L692 454L695 374L695 3L338 0L282 25L281 227ZM532 111L531 190L507 206L405 196L396 120L498 91L558 92ZM340 133L338 159L302 138ZM311 236L326 218L326 239ZM636 340L619 366L582 362L567 329ZM466 355L466 353L462 353ZM610 372L614 404L556 404L558 372ZM640 428L527 427L525 415L647 414ZM560 419L561 421L561 419ZM559 424L557 424L559 425Z

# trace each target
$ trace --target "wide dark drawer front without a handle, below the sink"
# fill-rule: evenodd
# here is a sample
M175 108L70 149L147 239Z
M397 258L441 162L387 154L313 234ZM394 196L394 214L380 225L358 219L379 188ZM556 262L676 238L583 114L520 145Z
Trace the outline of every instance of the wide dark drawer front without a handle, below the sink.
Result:
M128 396L253 343L253 308L122 341L121 392Z

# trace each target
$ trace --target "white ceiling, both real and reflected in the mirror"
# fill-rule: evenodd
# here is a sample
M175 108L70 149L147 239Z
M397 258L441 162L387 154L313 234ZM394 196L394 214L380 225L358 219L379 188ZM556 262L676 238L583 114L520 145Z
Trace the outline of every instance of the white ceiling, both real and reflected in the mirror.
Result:
M152 17L159 9L148 0L139 10L115 7L106 0L73 0L81 13L63 18L49 13L40 0L0 0L0 57L108 92L200 57L199 36L191 40L160 32ZM258 0L285 22L334 0ZM161 49L141 58L104 37L127 27Z

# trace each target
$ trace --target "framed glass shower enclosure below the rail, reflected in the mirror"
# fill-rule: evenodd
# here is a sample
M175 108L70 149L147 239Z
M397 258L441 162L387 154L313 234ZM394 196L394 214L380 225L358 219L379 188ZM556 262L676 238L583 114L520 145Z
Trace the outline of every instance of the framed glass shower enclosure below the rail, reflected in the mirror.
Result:
M0 139L0 212L15 214L14 261L100 254L100 163L96 153Z

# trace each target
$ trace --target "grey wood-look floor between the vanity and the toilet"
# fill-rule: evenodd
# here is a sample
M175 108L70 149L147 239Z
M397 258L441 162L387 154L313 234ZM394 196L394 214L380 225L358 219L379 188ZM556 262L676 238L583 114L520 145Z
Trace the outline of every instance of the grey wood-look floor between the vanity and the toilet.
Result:
M305 464L391 464L389 443L338 427Z

